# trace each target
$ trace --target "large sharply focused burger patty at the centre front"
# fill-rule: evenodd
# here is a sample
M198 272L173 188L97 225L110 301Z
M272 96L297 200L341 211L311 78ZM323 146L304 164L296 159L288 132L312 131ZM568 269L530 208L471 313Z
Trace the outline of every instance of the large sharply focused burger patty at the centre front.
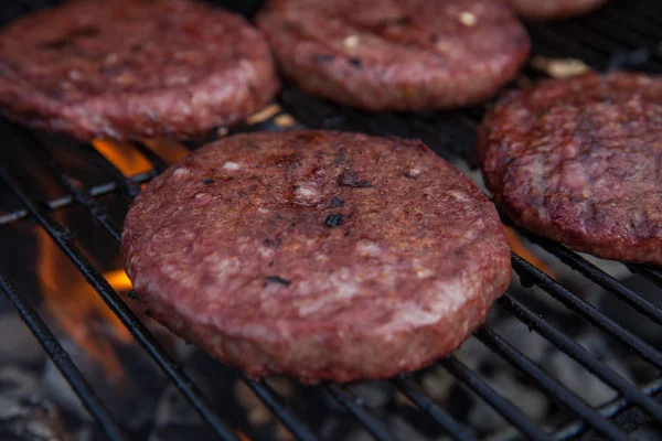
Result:
M419 141L327 131L197 150L138 196L122 254L173 332L250 376L303 383L426 366L510 280L495 208L461 172Z

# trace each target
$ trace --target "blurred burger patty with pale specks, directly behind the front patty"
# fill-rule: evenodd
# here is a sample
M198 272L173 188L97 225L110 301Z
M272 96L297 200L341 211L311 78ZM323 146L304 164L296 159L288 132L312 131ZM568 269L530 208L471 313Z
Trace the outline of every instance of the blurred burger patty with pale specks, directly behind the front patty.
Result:
M271 0L257 23L301 88L370 110L479 103L530 50L501 0Z

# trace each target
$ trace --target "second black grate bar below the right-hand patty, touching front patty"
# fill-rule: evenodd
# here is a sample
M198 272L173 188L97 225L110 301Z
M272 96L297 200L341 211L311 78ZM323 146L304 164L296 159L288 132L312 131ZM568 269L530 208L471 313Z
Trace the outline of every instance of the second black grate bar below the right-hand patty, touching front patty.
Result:
M513 269L523 278L525 281L532 281L553 298L562 302L572 311L587 319L597 327L606 331L609 335L618 338L623 343L628 349L637 352L643 359L651 363L658 368L662 368L662 353L656 348L652 347L641 338L624 330L622 326L601 314L592 305L585 302L570 291L566 290L563 286L552 279L549 276L521 258L514 252L511 252L511 261Z

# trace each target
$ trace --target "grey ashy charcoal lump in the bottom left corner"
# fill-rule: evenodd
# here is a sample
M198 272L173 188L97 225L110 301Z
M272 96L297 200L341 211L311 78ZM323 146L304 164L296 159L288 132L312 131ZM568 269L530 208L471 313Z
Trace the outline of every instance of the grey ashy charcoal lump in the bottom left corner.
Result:
M0 440L71 441L57 407L38 391L39 379L0 368Z

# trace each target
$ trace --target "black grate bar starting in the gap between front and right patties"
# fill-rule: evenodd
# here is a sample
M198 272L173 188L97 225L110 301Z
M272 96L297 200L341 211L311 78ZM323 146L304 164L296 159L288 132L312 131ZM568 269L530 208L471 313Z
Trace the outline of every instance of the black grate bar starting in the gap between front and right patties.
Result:
M596 282L605 290L617 295L620 300L628 303L642 315L645 315L651 321L662 325L662 309L658 305L651 303L578 254L573 252L567 247L543 237L536 237L523 229L517 228L517 230L532 243L552 252L574 270L579 271L587 279Z

